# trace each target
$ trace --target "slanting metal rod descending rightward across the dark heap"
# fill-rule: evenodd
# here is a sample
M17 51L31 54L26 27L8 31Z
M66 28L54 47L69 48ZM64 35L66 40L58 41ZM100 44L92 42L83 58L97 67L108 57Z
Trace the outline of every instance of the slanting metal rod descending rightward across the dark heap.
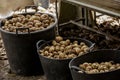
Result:
M90 28L90 27L88 27L88 26L79 24L79 23L77 23L77 22L75 22L75 21L72 21L72 20L71 20L70 22L71 22L72 24L75 24L75 25L81 27L81 28L90 30L90 31L92 31L92 32L95 32L95 33L98 33L98 34L101 34L101 35L104 35L105 37L109 38L110 40L117 40L117 41L120 41L119 38L114 37L114 36L112 36L112 35L110 35L110 34L106 34L106 33L104 33L104 32L100 32L100 31L98 31L98 30L95 30L95 29Z

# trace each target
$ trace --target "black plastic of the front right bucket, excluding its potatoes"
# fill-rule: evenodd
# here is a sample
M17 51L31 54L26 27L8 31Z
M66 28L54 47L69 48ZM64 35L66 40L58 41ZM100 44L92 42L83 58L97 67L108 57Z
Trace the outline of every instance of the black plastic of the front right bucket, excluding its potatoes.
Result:
M78 66L84 62L93 63L106 61L114 61L115 63L120 63L120 51L99 50L72 59L69 63L69 68L71 70L73 80L119 80L120 69L104 73L87 74L84 71L82 71L82 73L79 73L77 69L73 68L73 66Z

